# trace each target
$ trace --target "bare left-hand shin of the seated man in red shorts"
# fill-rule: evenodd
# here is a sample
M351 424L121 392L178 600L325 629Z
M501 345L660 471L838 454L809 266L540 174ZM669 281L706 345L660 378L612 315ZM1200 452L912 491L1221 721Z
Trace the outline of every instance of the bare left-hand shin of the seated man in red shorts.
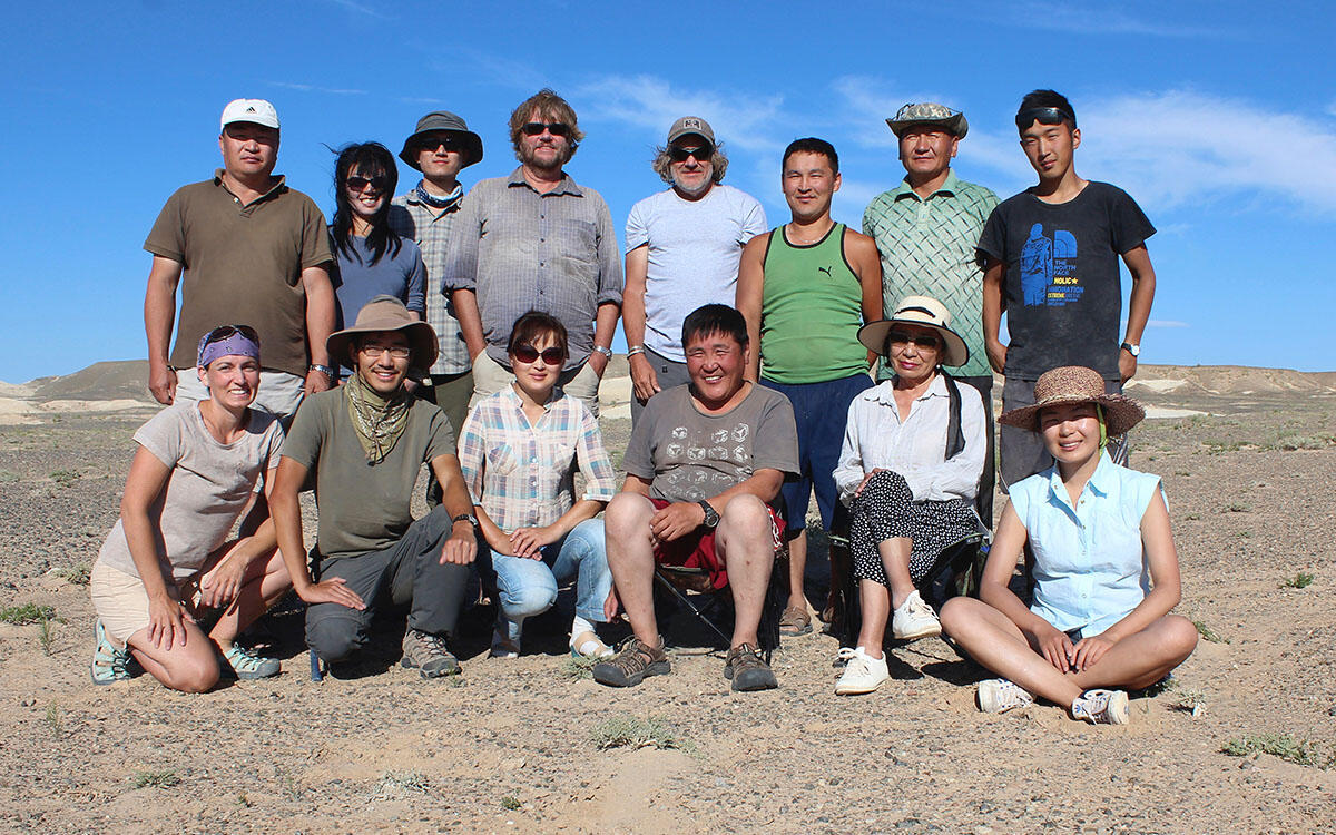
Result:
M644 496L617 493L608 502L604 528L608 536L608 568L631 628L644 644L659 645L655 620L655 552L649 520L655 506Z

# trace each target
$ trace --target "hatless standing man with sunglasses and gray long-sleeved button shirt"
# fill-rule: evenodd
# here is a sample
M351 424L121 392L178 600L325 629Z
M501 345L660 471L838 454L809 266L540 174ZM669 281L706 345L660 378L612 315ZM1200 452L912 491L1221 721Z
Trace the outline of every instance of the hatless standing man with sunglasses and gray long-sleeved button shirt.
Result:
M557 385L599 414L623 271L608 204L564 170L582 139L566 100L538 91L510 114L520 167L481 180L464 202L445 287L473 358L470 406L514 378L506 338L516 319L537 310L569 335Z

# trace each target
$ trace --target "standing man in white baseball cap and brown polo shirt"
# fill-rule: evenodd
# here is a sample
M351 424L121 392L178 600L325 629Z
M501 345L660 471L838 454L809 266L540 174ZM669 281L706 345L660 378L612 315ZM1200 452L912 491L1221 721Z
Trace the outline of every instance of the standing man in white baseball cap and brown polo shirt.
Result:
M305 394L334 382L325 349L334 330L325 216L274 176L279 123L273 104L236 99L219 122L223 167L176 190L144 240L154 257L144 293L148 389L163 405L206 398L188 370L194 346L219 325L246 322L263 346L255 405L289 418ZM178 285L176 345L168 353ZM187 373L178 378L175 369Z

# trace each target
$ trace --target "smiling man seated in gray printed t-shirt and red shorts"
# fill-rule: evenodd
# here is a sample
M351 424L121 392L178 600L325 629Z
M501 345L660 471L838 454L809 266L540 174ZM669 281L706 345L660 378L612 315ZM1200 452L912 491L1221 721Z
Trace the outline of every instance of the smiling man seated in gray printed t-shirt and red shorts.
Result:
M667 673L655 620L655 562L704 568L732 591L736 617L724 665L735 691L776 687L758 628L784 522L770 506L798 472L794 407L743 378L747 321L705 305L681 326L688 386L656 395L631 432L627 482L604 514L608 565L635 637L593 677L611 687Z

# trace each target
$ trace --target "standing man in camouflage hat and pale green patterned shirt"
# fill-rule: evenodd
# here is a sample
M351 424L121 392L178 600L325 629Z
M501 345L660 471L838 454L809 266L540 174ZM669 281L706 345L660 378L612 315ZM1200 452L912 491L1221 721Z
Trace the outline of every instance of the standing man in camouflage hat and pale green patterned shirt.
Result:
M993 370L983 350L983 271L975 246L998 198L951 171L951 159L970 130L965 114L943 104L906 104L887 119L899 140L904 180L876 196L863 212L863 232L882 254L882 289L887 310L904 295L930 295L951 311L951 322L970 349L969 361L953 369L983 397L989 452L975 506L993 526ZM882 369L880 378L890 377Z

